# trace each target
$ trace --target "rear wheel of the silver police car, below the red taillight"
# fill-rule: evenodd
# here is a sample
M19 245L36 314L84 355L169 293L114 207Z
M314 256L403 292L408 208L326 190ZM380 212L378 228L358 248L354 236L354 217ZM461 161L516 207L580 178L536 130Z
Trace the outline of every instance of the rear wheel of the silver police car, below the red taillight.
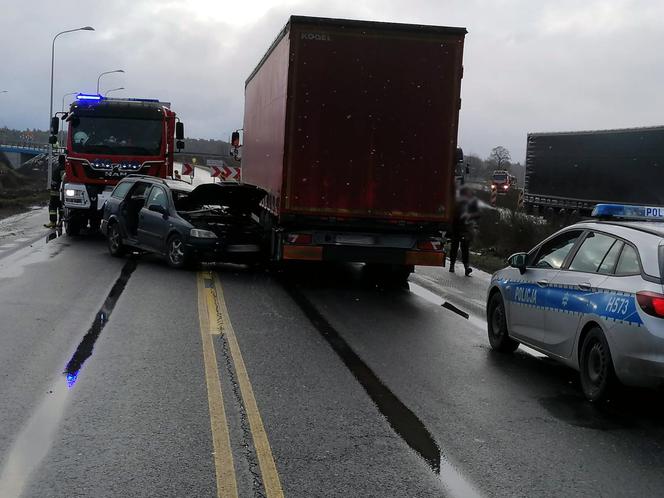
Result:
M588 401L603 401L609 397L617 381L609 343L599 327L591 329L583 341L579 370L581 389Z

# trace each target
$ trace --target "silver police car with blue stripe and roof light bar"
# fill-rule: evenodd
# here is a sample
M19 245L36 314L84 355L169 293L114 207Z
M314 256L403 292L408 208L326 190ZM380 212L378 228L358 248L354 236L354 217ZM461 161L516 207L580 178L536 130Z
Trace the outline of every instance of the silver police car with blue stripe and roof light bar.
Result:
M664 208L599 204L491 278L491 347L519 343L580 372L590 401L664 384Z

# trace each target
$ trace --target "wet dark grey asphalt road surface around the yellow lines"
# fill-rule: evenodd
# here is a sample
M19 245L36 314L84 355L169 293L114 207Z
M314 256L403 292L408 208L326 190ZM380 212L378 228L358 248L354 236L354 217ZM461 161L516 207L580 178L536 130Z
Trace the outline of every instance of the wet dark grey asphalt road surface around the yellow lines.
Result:
M0 496L217 496L200 277L46 233L0 252ZM481 289L455 277L464 308L440 271L214 269L284 495L661 495L661 396L595 407L574 372L493 354ZM212 344L239 495L264 496L237 359Z

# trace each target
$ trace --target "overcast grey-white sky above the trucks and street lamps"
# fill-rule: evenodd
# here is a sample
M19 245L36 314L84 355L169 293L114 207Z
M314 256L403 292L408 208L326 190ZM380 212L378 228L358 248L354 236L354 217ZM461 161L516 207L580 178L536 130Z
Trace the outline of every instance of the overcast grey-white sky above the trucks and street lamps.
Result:
M655 0L2 0L0 126L48 126L67 92L173 103L187 135L228 139L244 80L291 14L468 29L459 144L524 160L529 131L664 124L664 2Z

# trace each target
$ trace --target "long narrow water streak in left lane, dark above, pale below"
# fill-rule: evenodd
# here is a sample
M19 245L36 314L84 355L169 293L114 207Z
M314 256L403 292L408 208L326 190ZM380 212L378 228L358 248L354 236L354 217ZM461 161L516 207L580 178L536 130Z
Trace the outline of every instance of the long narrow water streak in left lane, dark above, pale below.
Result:
M30 474L39 467L48 454L64 416L69 391L74 387L83 363L92 355L94 344L136 267L136 260L125 263L90 329L83 336L83 340L62 372L65 378L58 377L53 382L54 387L39 403L37 410L14 441L0 474L1 498L20 497Z

